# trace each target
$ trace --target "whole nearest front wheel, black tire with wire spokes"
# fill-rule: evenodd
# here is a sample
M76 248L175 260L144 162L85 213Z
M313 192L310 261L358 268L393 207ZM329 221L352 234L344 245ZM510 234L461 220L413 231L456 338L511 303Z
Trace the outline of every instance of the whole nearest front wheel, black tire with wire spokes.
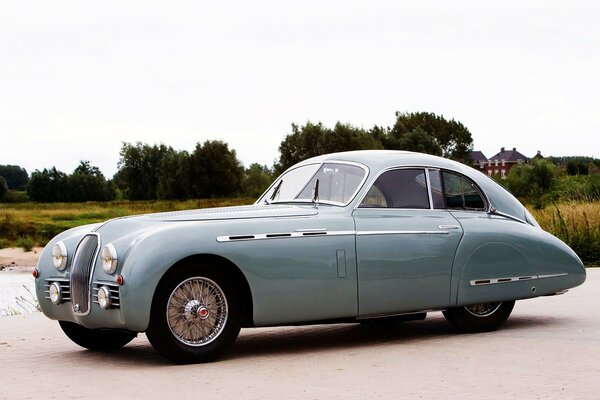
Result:
M222 270L185 265L160 282L146 336L176 363L209 362L233 344L241 316L238 294Z

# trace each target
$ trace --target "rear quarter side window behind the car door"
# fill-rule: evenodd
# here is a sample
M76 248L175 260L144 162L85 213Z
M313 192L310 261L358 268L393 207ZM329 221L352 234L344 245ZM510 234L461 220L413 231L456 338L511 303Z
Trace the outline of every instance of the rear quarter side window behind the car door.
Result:
M442 172L442 177L444 198L448 209L485 210L485 202L471 180L446 171Z

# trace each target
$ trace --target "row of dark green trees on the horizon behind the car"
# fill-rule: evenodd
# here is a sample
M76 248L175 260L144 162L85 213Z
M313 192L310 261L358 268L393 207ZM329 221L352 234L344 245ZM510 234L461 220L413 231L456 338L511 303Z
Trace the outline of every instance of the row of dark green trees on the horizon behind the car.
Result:
M394 124L389 127L365 129L341 122L333 127L312 122L292 124L291 132L279 145L279 159L272 166L255 163L246 168L227 143L207 140L197 143L191 152L165 144L123 143L112 179L106 179L88 161L81 161L71 174L51 167L36 170L25 180L24 169L13 168L6 175L0 169L0 178L4 176L7 182L0 181L0 199L2 188L25 188L30 200L41 202L258 197L275 175L321 154L393 149L469 162L472 147L471 133L458 121L429 112L396 112ZM20 178L15 180L14 175Z

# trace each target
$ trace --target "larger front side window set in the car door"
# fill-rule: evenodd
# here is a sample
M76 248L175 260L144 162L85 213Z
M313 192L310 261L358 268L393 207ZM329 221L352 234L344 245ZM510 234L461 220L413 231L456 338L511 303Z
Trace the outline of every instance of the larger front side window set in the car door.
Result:
M369 189L361 208L429 208L424 169L384 172Z

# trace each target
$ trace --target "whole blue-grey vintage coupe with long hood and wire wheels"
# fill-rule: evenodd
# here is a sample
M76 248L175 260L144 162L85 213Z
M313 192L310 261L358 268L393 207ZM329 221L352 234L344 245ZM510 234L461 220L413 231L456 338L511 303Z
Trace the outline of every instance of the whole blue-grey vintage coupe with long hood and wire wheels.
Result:
M469 166L406 151L305 160L249 206L148 214L51 240L34 271L46 316L88 349L145 332L178 363L241 327L424 318L490 331L515 300L585 281L579 257Z

